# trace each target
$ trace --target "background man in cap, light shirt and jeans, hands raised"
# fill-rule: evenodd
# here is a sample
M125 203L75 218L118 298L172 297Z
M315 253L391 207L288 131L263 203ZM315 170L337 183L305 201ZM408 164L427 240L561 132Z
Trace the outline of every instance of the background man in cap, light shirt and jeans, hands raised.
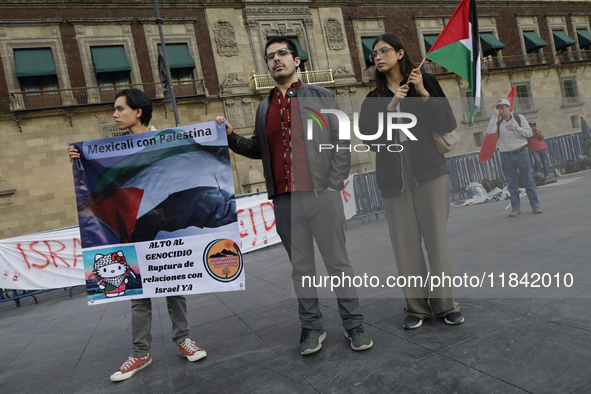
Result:
M494 114L486 129L487 134L499 134L499 152L501 153L501 164L503 174L509 186L511 194L511 213L509 217L521 214L519 209L521 202L519 197L519 174L525 185L529 204L533 213L542 213L536 184L531 173L529 151L527 150L528 138L532 138L531 127L527 124L525 117L520 114L511 114L510 103L507 99L501 99L493 106ZM501 115L500 119L498 115Z

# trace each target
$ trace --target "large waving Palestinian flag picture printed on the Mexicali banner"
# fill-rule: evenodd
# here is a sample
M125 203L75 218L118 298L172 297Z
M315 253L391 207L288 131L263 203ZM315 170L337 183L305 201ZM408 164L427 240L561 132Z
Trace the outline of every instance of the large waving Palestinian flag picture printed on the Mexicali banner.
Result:
M175 133L182 131L156 139ZM166 146L116 162L83 161L76 170L83 248L196 235L237 221L228 147L181 138Z

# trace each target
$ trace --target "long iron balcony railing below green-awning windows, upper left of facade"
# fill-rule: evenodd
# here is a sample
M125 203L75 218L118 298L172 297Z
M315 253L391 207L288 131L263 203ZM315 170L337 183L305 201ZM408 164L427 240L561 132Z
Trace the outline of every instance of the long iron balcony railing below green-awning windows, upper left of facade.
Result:
M173 82L176 97L204 96L205 85L202 79ZM115 94L123 89L136 88L145 92L152 100L162 98L162 85L159 82L95 86L55 90L11 92L0 97L2 112L15 112L28 109L48 109L75 107L91 104L108 104L115 101Z

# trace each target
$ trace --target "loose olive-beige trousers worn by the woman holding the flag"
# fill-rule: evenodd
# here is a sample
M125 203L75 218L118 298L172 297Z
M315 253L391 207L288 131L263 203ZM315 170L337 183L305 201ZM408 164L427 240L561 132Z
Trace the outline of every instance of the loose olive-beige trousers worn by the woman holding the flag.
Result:
M403 151L405 186L402 195L383 199L398 275L427 279L422 239L429 256L430 275L441 278L445 273L453 277L446 230L450 209L449 177L445 174L415 183L405 152L407 150ZM428 286L407 286L403 290L407 315L426 319L431 316L431 308L437 317L460 310L460 304L454 301L453 287L435 288L431 294Z

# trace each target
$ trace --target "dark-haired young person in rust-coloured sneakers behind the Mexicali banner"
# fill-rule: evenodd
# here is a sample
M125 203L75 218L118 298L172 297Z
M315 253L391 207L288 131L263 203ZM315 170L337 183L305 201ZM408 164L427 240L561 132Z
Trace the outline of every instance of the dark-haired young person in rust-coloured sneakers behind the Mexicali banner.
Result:
M148 126L152 119L152 102L141 90L125 89L115 96L115 112L113 118L121 130L128 129L125 134L138 134L156 130ZM80 158L78 150L68 148L70 162ZM187 300L184 296L166 297L170 320L172 321L172 340L178 346L178 352L189 361L197 361L207 353L191 340L189 322L187 320ZM132 351L125 363L111 375L114 382L129 379L139 370L152 363L150 347L152 344L152 300L150 298L131 300L131 331Z

